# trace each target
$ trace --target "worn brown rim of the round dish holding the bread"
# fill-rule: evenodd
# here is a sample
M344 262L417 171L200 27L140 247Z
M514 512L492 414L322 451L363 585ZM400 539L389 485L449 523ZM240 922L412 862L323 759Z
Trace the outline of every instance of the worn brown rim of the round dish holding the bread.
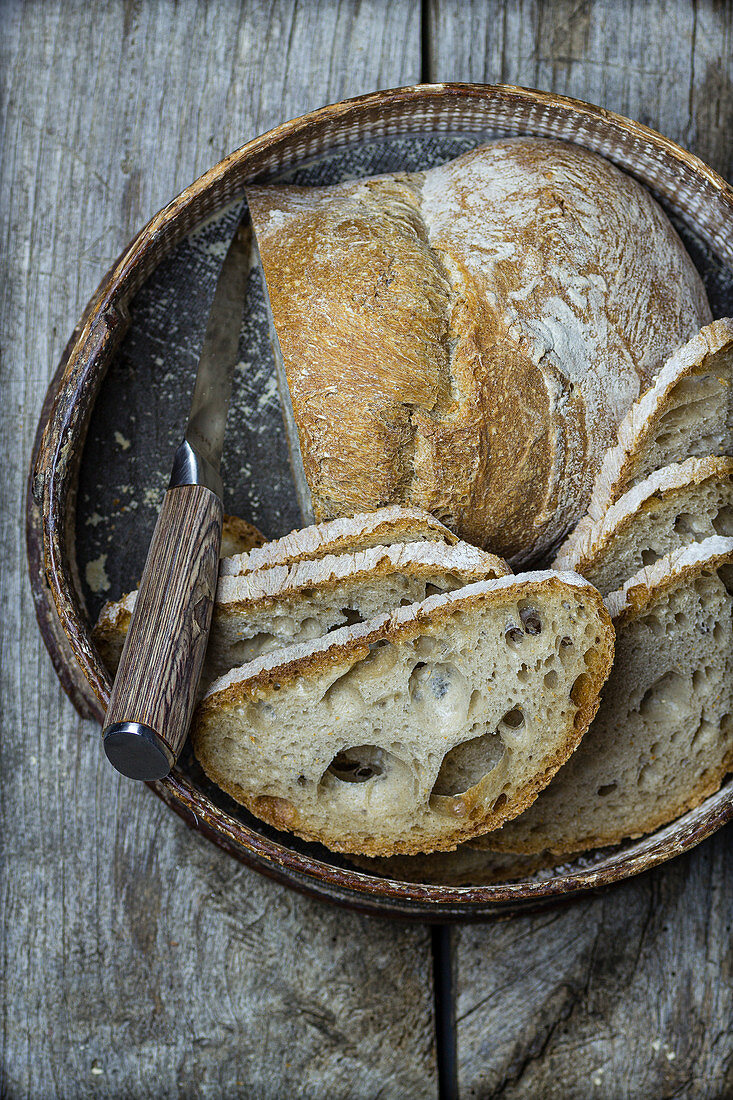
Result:
M731 233L724 251L733 258L733 187L699 157L656 131L623 116L582 100L514 85L423 84L370 92L327 105L281 123L244 143L199 176L155 213L112 264L90 298L52 380L41 413L31 458L26 495L26 544L36 617L54 668L67 694L85 717L101 721L109 697L109 678L91 645L78 590L75 591L74 536L66 505L84 449L86 420L103 381L103 366L124 334L128 302L150 272L185 235L175 235L197 204L215 185L276 151L286 140L307 134L314 127L400 107L415 99L499 98L511 103L541 105L584 116L595 123L621 129L635 141L653 146L680 167L704 179L726 208ZM407 132L394 130L393 133ZM414 131L413 131L414 132ZM427 129L425 132L428 132ZM467 131L469 132L469 131ZM333 142L336 150L348 139ZM300 158L302 160L302 158ZM298 157L292 157L292 164ZM258 178L254 170L249 180ZM244 183L239 187L243 191ZM220 204L221 206L222 204ZM201 219L203 220L203 219ZM167 241L166 241L167 233ZM730 240L730 249L727 242ZM150 255L153 265L150 266ZM76 447L72 446L76 444ZM481 887L447 887L400 882L315 859L272 840L242 821L218 809L179 773L149 784L184 820L220 847L287 884L316 897L375 915L434 921L483 919L497 913L537 908L561 898L609 886L666 861L733 820L733 781L661 829L632 842L628 847L592 867L547 879ZM570 857L558 857L558 860ZM561 866L561 864L560 864Z

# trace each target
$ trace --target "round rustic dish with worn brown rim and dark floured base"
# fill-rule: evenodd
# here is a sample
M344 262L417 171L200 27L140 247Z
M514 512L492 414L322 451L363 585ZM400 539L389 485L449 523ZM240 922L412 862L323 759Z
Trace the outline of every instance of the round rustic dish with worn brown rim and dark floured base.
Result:
M575 142L648 186L698 265L713 315L733 314L733 189L678 145L598 107L507 86L422 85L325 107L249 142L157 213L112 266L43 406L28 495L31 583L54 667L81 715L101 721L105 713L110 681L91 623L106 595L121 595L140 576L185 419L217 256L245 185L419 169L482 139L516 134ZM240 356L225 504L277 537L300 517L256 270ZM641 840L525 880L458 888L362 873L346 858L267 828L206 780L190 750L151 787L189 825L265 875L373 914L429 921L485 919L628 878L733 818L729 779L697 810Z

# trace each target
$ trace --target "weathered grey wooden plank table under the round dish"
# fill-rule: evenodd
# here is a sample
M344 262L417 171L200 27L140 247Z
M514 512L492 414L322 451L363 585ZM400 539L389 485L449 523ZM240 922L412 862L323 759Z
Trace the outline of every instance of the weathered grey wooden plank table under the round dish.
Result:
M730 831L602 897L453 930L436 1015L430 930L261 879L103 762L35 629L20 518L83 306L225 153L373 88L503 80L632 116L730 178L731 0L6 0L0 18L0 1093L733 1096Z

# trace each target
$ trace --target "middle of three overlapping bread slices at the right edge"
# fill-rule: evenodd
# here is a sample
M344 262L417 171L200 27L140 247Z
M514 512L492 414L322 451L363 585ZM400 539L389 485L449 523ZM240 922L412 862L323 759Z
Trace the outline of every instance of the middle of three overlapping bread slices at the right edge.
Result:
M733 458L688 459L649 474L601 520L584 517L554 569L573 569L603 595L666 553L733 536Z

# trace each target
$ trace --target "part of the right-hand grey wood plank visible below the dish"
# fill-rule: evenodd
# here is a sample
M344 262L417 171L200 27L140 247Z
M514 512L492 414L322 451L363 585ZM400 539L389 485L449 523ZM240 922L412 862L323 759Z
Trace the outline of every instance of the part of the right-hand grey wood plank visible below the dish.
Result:
M456 937L461 1097L733 1094L733 850Z

